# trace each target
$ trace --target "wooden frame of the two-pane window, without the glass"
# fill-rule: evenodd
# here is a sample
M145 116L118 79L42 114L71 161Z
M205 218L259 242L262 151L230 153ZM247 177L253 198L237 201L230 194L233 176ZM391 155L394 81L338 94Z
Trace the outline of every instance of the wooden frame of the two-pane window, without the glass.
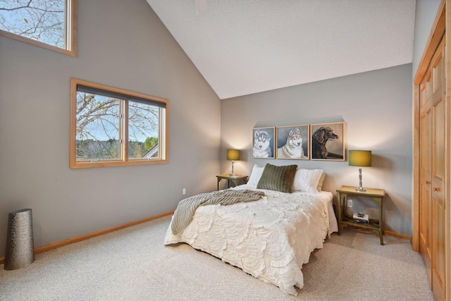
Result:
M126 97L130 97L130 101L133 98L142 99L148 101L149 104L159 103L161 104L160 116L159 116L159 158L155 159L129 159L128 158L128 100L124 99L124 123L121 122L121 127L125 132L125 138L121 145L121 159L117 160L101 160L101 161L77 161L77 92L78 86L91 87L95 90L102 90L105 92L112 92L116 94L122 94ZM164 108L163 108L164 106ZM163 112L163 113L161 113ZM152 164L166 164L169 161L169 101L160 97L153 97L146 94L137 92L131 92L128 90L119 89L116 87L109 87L106 85L100 85L94 82L88 82L86 80L79 80L72 78L70 80L70 168L93 168L93 167L106 167L106 166L130 166L130 165L152 165Z

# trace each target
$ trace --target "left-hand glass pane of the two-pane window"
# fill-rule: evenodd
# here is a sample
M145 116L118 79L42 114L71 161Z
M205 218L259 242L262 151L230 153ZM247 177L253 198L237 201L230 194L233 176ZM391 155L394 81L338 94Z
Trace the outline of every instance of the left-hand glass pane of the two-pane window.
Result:
M77 92L77 160L120 159L121 101Z

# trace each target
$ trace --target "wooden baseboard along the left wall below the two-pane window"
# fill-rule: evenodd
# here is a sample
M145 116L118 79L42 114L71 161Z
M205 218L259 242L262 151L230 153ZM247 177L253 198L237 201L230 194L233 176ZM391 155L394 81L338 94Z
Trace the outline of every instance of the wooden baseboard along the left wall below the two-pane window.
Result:
M89 238L94 238L94 237L99 236L99 235L104 235L106 233L111 233L111 232L114 232L114 231L118 231L118 230L121 230L123 228L128 228L128 227L131 227L131 226L138 225L140 223L146 223L147 221L153 221L154 219L159 219L159 218L161 218L163 216L168 216L168 215L171 215L173 213L174 213L174 211L168 211L168 212L165 212L165 213L162 213L162 214L157 214L155 216L149 216L149 217L146 217L144 219L139 219L137 221L131 221L130 223L124 223L123 225L120 225L120 226L106 228L104 230L88 233L88 234L85 234L85 235L78 236L76 238L70 238L68 240L62 240L60 242L55 242L55 243L52 243L51 245L44 245L43 247L37 247L35 249L35 254L46 252L46 251L49 251L49 250L54 250L54 249L56 249L58 247L63 247L65 245L70 245L70 244L73 244L75 242L80 242L82 240L87 240ZM4 263L5 263L5 257L1 257L0 258L0 264L4 264Z

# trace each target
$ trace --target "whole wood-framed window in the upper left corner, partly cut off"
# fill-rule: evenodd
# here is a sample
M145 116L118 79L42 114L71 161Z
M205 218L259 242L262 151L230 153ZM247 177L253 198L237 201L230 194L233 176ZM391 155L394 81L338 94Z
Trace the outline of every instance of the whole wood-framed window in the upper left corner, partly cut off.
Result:
M0 35L77 56L77 0L0 0Z

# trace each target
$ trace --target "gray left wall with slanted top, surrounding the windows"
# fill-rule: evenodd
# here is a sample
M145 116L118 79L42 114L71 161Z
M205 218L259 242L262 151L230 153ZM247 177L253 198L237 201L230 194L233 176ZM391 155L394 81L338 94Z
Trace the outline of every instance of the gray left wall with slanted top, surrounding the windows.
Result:
M78 58L0 49L0 257L9 211L32 209L40 247L216 189L221 102L145 0L79 0ZM71 170L72 77L169 99L169 163Z

